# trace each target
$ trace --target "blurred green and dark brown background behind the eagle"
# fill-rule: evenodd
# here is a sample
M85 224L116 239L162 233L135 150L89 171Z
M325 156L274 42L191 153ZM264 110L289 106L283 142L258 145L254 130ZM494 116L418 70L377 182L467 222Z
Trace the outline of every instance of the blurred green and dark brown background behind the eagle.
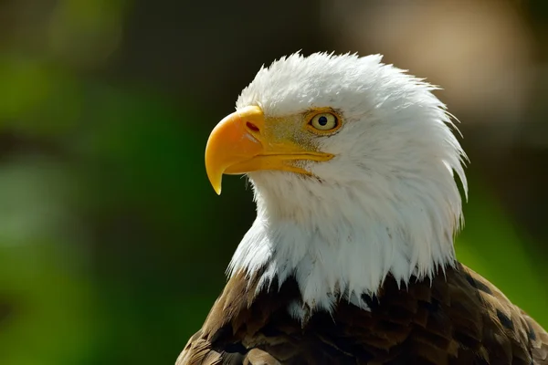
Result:
M471 163L459 258L548 326L544 0L0 2L0 363L172 364L251 193L205 141L258 68L382 53L442 86Z

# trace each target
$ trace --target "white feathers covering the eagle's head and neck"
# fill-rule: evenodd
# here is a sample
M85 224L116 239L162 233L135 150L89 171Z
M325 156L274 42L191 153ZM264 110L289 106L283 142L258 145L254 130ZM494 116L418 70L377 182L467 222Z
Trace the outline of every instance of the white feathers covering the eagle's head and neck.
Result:
M248 173L258 216L230 273L264 268L263 286L294 275L303 305L332 310L340 297L365 308L361 296L389 274L406 284L454 265L462 208L453 172L466 192L466 156L436 88L381 58L295 54L261 68L242 91L237 109L281 117L331 107L344 124L318 137L331 161L304 163L318 179Z

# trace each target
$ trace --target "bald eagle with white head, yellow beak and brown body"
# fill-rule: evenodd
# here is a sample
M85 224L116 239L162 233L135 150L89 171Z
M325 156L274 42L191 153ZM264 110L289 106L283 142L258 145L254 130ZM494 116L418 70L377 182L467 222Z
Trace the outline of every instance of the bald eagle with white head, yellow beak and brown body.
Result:
M467 161L427 82L378 55L282 57L212 131L257 219L183 364L548 364L548 334L455 256Z

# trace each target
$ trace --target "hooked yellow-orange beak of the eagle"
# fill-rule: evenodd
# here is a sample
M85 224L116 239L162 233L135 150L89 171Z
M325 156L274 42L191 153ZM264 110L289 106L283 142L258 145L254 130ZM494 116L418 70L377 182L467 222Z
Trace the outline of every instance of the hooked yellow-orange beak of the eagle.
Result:
M263 111L253 106L237 110L216 125L205 147L205 170L217 194L221 193L223 173L281 170L310 175L291 162L332 159L330 153L310 151L288 138L277 137L279 122L265 120Z

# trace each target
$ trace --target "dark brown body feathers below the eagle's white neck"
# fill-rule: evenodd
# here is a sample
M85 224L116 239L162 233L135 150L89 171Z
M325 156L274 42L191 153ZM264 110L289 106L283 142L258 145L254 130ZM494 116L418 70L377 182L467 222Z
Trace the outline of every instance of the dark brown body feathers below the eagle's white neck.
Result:
M548 365L548 334L466 266L399 288L390 277L363 310L341 301L304 323L293 278L256 294L233 276L176 365L490 364Z

